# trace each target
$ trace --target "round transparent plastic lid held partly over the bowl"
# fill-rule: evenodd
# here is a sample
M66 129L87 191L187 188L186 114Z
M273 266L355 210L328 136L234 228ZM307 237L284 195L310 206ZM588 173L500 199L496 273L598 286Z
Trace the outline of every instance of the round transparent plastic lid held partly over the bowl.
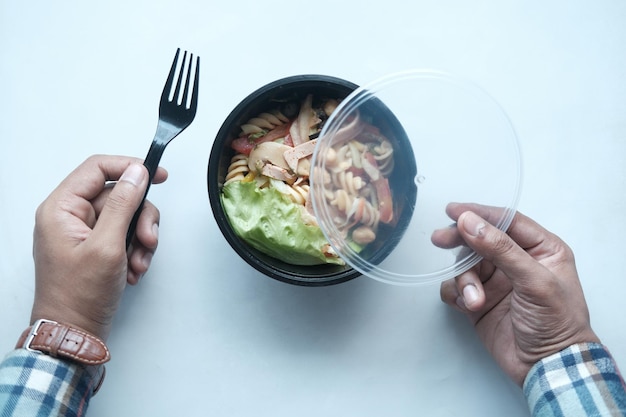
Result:
M440 281L477 264L455 232L459 211L488 211L486 220L506 230L521 185L503 109L476 85L427 70L384 77L343 100L311 172L313 209L333 249L394 284Z

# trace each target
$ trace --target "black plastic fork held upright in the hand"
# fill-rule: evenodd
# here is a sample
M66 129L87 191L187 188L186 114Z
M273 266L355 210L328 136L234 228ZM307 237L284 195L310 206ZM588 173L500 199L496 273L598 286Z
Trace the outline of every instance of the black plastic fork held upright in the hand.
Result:
M174 84L174 78L176 77L176 67L178 65L178 56L180 55L180 48L176 50L176 56L174 56L174 62L172 68L163 87L163 93L161 94L161 102L159 104L159 122L157 124L157 131L148 150L148 155L144 161L144 166L148 169L150 174L150 180L148 187L143 196L143 200L139 209L135 212L133 219L128 228L126 234L126 247L128 248L135 236L135 229L137 228L137 221L141 210L143 210L143 204L148 195L150 184L154 179L157 168L159 167L159 161L165 151L165 147L176 136L180 134L187 126L193 122L196 116L196 109L198 108L198 84L200 81L200 57L196 57L196 69L193 80L191 79L191 68L193 63L193 54L189 54L189 62L187 64L187 76L185 83L183 84L183 73L185 68L185 62L187 61L187 51L183 54L183 60L180 65L180 71L178 73L178 80L176 86L172 90ZM193 82L193 89L191 86ZM191 100L189 101L189 90L191 91ZM182 95L182 97L181 97ZM172 97L170 99L170 96ZM189 103L188 103L189 101Z

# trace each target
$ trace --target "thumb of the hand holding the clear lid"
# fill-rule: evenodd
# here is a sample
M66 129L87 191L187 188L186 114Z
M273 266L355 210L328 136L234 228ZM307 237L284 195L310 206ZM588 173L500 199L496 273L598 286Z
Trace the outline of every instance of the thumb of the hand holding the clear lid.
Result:
M545 274L544 267L522 249L508 234L477 214L466 211L457 220L465 242L483 258L502 270L513 287L531 286L533 279Z

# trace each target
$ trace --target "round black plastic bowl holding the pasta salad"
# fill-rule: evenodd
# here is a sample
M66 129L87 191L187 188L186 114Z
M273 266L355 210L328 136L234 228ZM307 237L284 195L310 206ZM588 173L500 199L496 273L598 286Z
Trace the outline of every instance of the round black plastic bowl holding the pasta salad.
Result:
M244 259L249 265L263 274L277 279L282 282L302 285L302 286L327 286L349 281L359 277L360 272L351 268L349 265L292 265L282 262L279 259L270 257L257 249L249 246L240 239L230 226L228 217L221 203L221 189L225 181L225 177L230 165L231 158L235 151L231 148L231 143L239 136L241 125L250 118L255 117L261 112L269 110L274 106L273 103L280 101L301 101L307 94L316 96L325 96L332 98L345 98L352 93L358 86L350 81L326 75L296 75L283 78L269 83L247 96L235 109L229 114L221 128L219 129L211 155L209 157L208 166L208 193L213 215L220 228L222 234L230 246ZM388 109L383 107L381 114L385 114L385 119L393 119L392 123L397 123L393 115ZM396 126L392 129L397 130ZM402 131L401 127L400 130ZM402 136L404 131L402 131ZM400 142L406 140L405 137L399 139ZM408 155L408 164L400 163L401 170L409 169L415 171L415 159ZM401 162L401 161L400 161ZM404 175L404 174L403 174ZM410 174L413 175L413 174ZM408 176L407 178L412 178ZM416 189L409 187L406 193L410 195L409 200L415 201ZM406 193L403 195L403 201L406 201ZM397 241L402 235L402 229L410 220L412 207L404 207L400 227L397 231L390 232L391 240L382 240L375 249L378 253L376 258L382 259L385 252L388 253L393 249L394 241Z

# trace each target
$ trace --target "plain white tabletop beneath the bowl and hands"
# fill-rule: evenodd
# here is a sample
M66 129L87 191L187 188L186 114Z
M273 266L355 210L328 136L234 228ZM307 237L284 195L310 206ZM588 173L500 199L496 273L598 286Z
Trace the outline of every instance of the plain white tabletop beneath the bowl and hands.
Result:
M215 134L247 94L306 73L430 68L490 92L521 141L519 209L572 246L626 368L625 22L623 0L1 1L0 351L28 324L36 207L91 154L145 155L182 47L202 58L198 115L150 191L159 250L125 293L91 416L528 415L438 284L292 286L227 245L205 180Z

